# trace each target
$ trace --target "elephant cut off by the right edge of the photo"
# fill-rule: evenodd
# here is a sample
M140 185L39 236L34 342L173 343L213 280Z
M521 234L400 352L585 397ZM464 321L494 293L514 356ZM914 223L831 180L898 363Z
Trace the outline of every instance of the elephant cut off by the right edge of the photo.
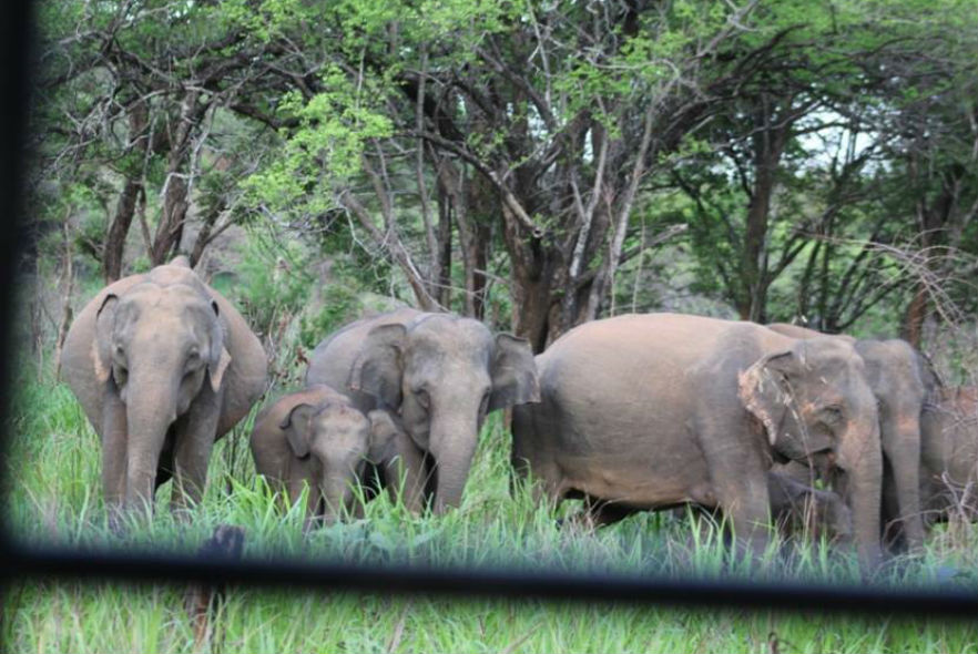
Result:
M920 431L925 524L978 520L978 388L941 388L924 409ZM884 507L892 504L884 494Z

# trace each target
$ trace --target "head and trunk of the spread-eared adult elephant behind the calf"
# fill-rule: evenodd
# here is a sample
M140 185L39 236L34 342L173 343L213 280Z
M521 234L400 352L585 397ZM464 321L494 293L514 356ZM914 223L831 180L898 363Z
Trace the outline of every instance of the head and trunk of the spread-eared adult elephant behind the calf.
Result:
M436 512L461 501L486 415L540 400L526 340L440 314L373 328L347 385L399 409L411 440L434 458Z

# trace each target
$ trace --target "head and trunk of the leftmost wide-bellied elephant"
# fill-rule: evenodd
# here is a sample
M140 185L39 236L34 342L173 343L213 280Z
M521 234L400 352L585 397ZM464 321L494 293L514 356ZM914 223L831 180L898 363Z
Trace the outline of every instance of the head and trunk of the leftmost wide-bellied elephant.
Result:
M128 508L151 505L167 431L200 396L220 401L230 362L218 305L200 283L160 285L150 276L124 294L105 295L92 364L96 380L125 405L125 460L116 463L125 470Z

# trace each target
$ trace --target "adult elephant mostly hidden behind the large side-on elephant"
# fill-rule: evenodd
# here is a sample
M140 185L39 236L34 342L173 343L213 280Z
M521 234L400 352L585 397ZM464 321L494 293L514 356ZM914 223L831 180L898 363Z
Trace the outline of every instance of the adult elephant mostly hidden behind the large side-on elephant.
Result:
M768 327L794 338L824 337L797 325ZM936 381L920 355L905 340L859 339L853 343L866 364L866 381L879 407L883 447L885 540L903 540L910 551L924 548L920 504L920 412Z

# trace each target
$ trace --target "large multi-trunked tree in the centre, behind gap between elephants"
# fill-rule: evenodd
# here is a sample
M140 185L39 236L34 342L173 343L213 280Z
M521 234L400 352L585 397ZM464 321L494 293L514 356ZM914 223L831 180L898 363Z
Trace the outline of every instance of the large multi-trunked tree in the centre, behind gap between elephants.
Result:
M513 327L542 349L600 315L619 266L639 254L623 245L643 184L730 89L763 68L777 33L731 45L752 8L324 9L342 45L324 57L325 91L279 113L299 127L287 135L287 161L258 177L258 203L296 217L350 212L425 307L446 298L438 288L452 234L469 298L486 286L489 241L501 239L519 307ZM404 236L409 222L395 215L408 178L426 246L415 249Z

